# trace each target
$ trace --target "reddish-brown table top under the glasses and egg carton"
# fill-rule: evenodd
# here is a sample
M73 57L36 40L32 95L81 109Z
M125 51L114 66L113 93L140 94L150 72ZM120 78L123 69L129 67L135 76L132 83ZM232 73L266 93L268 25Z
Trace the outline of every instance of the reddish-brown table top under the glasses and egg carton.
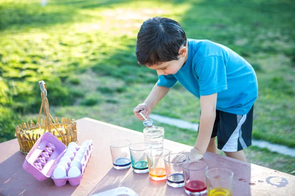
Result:
M51 178L37 181L22 165L25 155L19 151L16 139L0 144L0 194L5 196L89 196L120 186L133 189L139 196L185 196L184 187L172 188L166 180L153 181L148 173L137 174L132 168L115 170L109 144L113 140L128 139L144 142L137 131L103 123L89 118L77 121L80 144L93 140L94 149L79 186L68 183L56 187ZM164 147L179 152L191 147L165 140ZM207 152L204 161L209 168L222 167L234 172L233 196L294 196L295 176L258 165Z

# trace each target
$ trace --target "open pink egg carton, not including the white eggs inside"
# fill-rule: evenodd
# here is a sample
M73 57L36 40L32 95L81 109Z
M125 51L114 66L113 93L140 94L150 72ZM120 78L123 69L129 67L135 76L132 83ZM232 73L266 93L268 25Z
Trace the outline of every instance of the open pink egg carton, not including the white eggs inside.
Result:
M54 135L46 132L37 140L32 149L29 151L29 154L26 156L25 162L23 164L23 168L39 181L43 181L51 177L54 180L55 185L58 187L65 185L66 181L69 181L72 186L76 186L81 183L81 179L89 162L92 149L93 142L89 140L89 146L84 152L83 158L81 160L81 175L73 178L67 176L59 179L54 178L52 176L53 171L58 165L60 158L65 153L66 146ZM73 160L73 158L71 160ZM68 170L69 167L67 171Z

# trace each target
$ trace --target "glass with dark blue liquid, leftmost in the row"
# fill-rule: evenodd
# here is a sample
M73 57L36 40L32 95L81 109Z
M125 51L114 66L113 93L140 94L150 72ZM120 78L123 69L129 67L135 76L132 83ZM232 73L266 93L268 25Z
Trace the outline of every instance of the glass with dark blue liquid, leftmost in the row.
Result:
M129 140L116 140L111 142L110 149L114 168L117 170L124 170L130 168L131 157L129 152Z

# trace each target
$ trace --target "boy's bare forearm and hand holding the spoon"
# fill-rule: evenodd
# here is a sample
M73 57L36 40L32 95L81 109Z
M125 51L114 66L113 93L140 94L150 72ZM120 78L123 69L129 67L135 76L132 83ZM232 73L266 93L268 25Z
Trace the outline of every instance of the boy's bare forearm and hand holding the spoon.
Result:
M164 86L158 86L157 83L154 85L152 90L150 91L148 98L144 101L144 103L137 105L134 108L134 116L138 119L144 120L140 114L138 113L140 109L144 109L142 114L148 119L150 111L156 106L156 104L164 98L169 92L170 88Z

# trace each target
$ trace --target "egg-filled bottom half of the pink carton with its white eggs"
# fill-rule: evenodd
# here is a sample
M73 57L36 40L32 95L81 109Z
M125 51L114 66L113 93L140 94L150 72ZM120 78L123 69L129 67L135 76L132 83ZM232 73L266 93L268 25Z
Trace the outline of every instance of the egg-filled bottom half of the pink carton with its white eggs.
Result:
M72 186L80 184L92 149L92 140L83 142L81 146L71 142L60 158L51 177L55 185L58 187L63 186L66 184L66 181L69 181Z

